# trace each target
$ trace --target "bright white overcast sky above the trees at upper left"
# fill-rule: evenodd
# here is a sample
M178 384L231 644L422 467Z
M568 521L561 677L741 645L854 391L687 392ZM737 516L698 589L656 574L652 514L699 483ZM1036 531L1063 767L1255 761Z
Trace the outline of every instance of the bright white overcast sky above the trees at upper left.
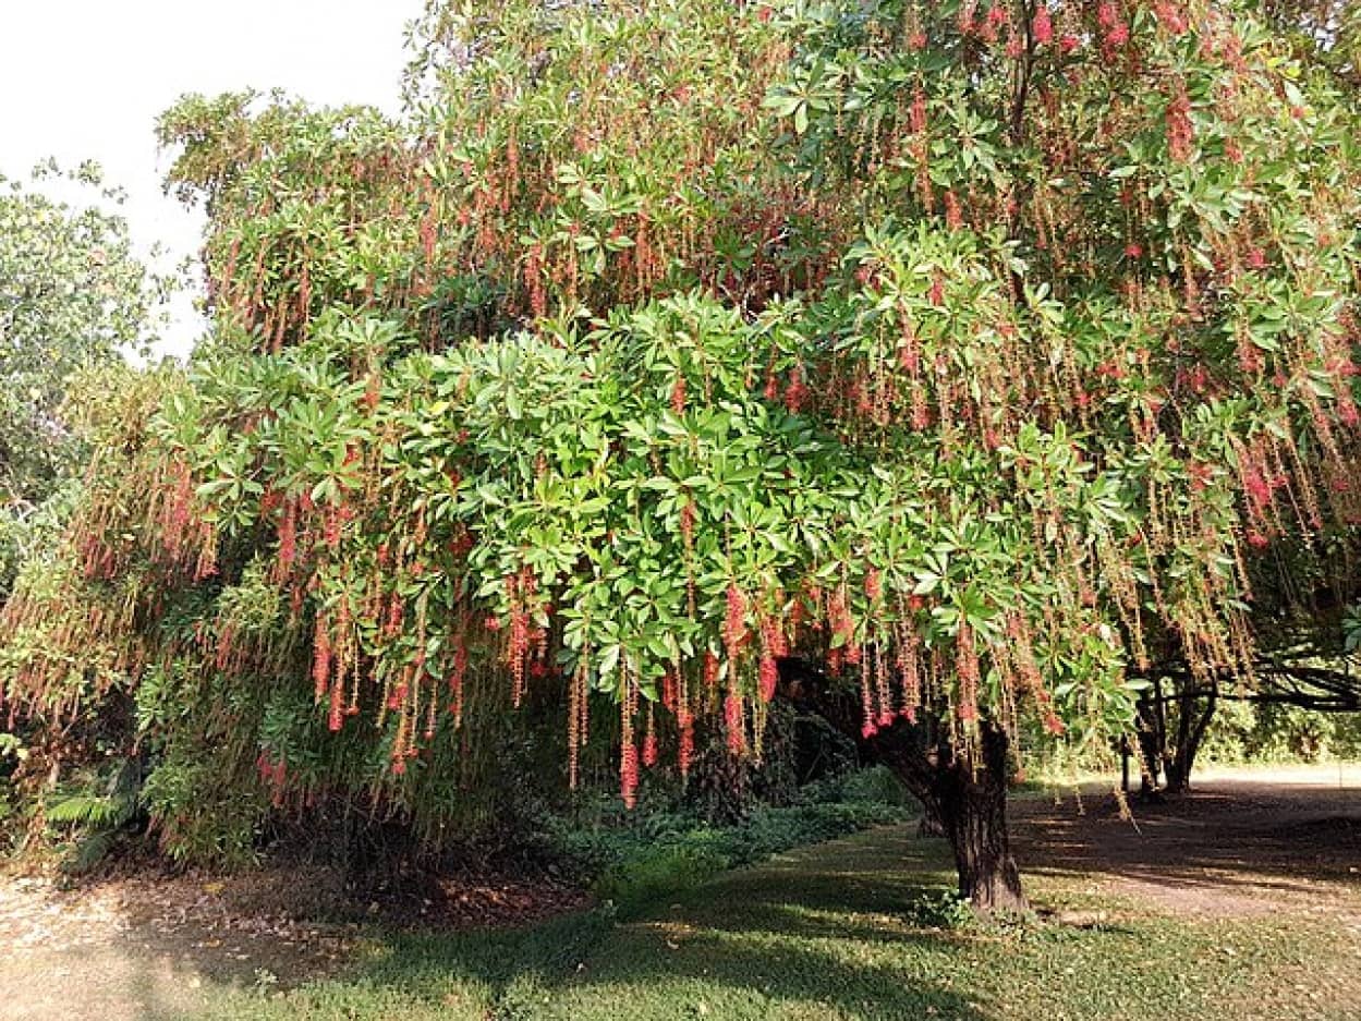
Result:
M0 27L0 174L95 159L143 248L197 250L200 223L161 193L157 116L184 93L274 87L396 110L404 27L422 0L8 0ZM196 325L182 313L167 350Z

